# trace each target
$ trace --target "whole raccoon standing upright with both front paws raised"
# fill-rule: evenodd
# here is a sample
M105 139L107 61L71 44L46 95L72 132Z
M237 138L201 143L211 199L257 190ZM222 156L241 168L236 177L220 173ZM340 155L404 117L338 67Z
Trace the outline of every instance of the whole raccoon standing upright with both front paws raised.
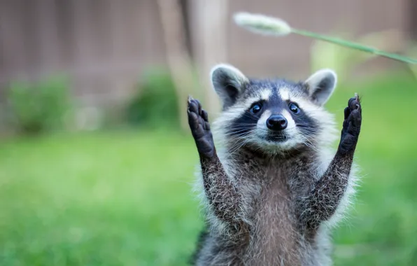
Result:
M332 265L330 231L354 195L358 94L332 151L337 130L324 108L337 85L331 69L293 82L218 64L211 81L222 102L213 125L188 98L206 214L192 265Z

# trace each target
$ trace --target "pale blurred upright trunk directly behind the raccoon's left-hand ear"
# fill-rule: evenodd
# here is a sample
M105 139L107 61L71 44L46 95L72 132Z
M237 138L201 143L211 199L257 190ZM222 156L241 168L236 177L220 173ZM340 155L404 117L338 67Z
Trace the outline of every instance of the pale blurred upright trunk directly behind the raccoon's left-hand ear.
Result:
M228 0L190 0L190 27L195 62L204 89L204 109L209 116L220 111L220 102L211 87L210 71L227 61Z

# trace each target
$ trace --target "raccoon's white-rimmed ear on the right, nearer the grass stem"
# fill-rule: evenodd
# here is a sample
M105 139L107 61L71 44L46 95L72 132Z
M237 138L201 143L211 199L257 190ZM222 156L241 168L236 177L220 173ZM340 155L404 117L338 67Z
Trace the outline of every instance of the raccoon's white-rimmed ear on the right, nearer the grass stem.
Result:
M318 106L323 106L332 96L337 84L337 75L332 69L320 69L304 82L310 100Z

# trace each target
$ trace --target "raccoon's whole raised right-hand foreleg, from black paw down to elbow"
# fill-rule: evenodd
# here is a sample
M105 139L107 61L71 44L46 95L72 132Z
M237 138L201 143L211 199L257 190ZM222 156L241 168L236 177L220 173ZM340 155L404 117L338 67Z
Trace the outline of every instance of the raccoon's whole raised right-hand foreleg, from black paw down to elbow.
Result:
M360 99L356 95L349 99L348 107L344 110L344 123L337 153L311 191L308 211L304 211L304 215L309 216L304 220L308 228L317 228L321 222L329 219L346 193L361 122L362 109Z

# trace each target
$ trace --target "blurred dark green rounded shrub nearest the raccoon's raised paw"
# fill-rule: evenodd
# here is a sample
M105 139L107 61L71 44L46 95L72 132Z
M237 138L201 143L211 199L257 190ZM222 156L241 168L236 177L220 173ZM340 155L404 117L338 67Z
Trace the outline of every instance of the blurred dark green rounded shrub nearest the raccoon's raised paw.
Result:
M127 106L127 122L143 127L178 127L178 104L169 71L152 69L145 73Z

